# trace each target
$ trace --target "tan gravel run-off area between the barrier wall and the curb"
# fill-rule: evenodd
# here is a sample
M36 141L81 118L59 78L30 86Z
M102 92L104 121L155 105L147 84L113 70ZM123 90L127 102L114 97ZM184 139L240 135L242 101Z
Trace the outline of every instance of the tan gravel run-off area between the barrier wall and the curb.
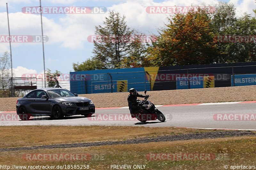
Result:
M144 94L143 92L139 92ZM256 86L237 86L204 89L181 89L148 91L151 95L149 101L155 105L162 104L188 104L188 103L216 103L256 101ZM83 94L93 101L97 108L128 106L128 92ZM14 111L18 97L0 98L0 111ZM141 98L143 99L143 98Z

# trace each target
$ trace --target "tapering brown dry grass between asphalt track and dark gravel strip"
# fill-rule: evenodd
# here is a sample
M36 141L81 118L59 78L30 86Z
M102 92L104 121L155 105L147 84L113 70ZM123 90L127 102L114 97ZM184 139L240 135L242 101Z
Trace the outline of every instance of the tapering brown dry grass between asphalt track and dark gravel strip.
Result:
M0 126L0 147L67 144L208 132L175 127Z

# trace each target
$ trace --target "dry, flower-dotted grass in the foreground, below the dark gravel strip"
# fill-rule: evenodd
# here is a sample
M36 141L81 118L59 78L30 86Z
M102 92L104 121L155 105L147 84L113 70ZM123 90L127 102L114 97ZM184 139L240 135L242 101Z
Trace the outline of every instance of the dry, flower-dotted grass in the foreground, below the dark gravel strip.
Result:
M224 169L224 165L255 165L256 137L227 137L147 144L105 145L98 147L44 149L1 152L4 165L90 165L90 169L109 169L113 164L146 165L146 169ZM24 154L89 153L90 161L25 161ZM148 153L212 153L213 160L148 160ZM103 155L97 159L95 155Z

